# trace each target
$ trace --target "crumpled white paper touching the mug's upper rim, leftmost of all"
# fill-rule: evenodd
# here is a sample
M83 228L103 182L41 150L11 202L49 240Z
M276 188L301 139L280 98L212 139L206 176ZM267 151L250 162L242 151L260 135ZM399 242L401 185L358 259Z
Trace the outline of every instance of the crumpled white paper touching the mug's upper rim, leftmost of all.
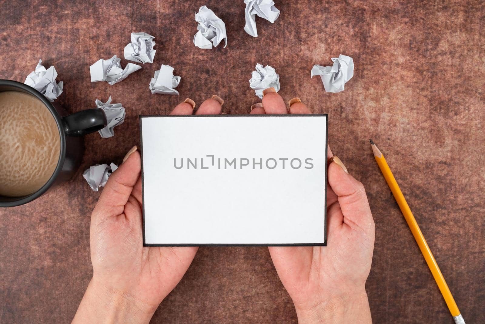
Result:
M54 65L50 65L50 67L46 69L42 65L42 60L39 59L35 71L32 71L31 74L27 76L24 83L39 91L52 102L62 94L63 89L63 81L57 83L56 78L57 71Z

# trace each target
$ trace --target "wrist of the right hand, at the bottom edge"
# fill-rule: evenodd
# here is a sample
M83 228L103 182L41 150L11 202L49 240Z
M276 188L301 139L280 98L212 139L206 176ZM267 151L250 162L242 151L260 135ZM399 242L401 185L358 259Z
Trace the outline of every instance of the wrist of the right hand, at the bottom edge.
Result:
M296 308L298 323L372 323L365 289Z

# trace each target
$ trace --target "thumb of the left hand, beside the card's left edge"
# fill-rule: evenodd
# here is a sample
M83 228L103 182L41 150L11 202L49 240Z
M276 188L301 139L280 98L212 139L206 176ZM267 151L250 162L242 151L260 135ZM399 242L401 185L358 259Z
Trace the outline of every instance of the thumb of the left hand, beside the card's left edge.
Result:
M141 159L136 149L133 146L129 150L127 160L108 179L93 211L93 217L108 218L123 213L133 186L140 178Z

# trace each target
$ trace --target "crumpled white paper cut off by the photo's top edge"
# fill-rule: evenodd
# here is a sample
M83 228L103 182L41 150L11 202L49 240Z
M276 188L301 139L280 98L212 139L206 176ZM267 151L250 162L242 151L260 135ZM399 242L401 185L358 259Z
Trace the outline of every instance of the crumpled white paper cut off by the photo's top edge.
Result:
M279 10L275 8L273 0L244 0L246 9L246 25L244 31L253 37L258 37L258 30L256 29L256 16L264 18L271 23L274 23L279 16Z

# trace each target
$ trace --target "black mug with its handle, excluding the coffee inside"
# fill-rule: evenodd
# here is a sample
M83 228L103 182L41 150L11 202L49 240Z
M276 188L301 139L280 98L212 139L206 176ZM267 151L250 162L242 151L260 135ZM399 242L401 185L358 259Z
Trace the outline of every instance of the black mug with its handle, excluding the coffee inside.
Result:
M43 94L24 83L0 80L0 92L3 91L23 92L41 100L54 117L61 140L59 161L49 181L35 193L23 197L0 195L0 207L14 207L31 202L45 194L53 186L70 179L81 164L84 148L82 136L101 130L108 125L108 122L106 121L106 114L100 108L87 109L69 115L59 105L50 102Z

